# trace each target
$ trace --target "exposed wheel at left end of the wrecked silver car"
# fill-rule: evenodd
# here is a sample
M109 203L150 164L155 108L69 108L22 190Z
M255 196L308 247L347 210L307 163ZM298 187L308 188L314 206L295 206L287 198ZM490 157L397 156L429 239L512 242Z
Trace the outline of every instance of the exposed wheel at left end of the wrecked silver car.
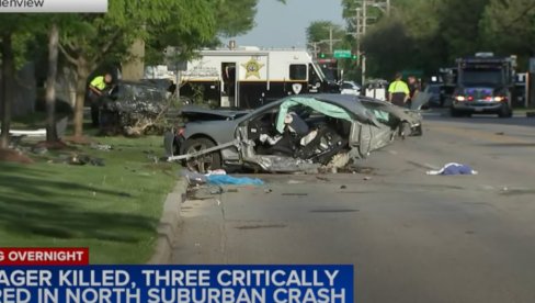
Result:
M216 145L208 138L187 139L184 143L184 154L192 154L214 146ZM185 160L185 167L192 171L206 173L208 170L221 168L221 155L219 152L204 154Z

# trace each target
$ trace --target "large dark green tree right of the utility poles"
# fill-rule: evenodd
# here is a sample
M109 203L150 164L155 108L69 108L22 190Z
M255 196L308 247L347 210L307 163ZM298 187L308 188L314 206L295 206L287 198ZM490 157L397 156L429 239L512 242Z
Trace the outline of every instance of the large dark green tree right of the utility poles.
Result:
M489 0L391 0L390 16L369 9L374 16L362 46L368 74L390 77L395 70L421 69L433 74L458 56L481 48L479 20ZM343 0L348 27L354 27L362 1Z

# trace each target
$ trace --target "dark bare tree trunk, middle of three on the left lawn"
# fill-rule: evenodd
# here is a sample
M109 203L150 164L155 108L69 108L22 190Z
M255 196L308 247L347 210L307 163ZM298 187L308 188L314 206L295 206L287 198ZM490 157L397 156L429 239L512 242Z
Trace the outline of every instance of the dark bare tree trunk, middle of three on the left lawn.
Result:
M48 33L48 75L46 78L46 141L58 141L56 130L56 76L58 70L59 30L56 23Z

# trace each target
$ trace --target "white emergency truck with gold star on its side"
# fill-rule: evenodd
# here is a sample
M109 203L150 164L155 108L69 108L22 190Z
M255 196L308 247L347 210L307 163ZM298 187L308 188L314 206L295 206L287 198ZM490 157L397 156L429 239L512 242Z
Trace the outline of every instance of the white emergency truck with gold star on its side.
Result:
M180 96L223 108L255 109L288 94L340 92L306 50L201 50L177 77Z

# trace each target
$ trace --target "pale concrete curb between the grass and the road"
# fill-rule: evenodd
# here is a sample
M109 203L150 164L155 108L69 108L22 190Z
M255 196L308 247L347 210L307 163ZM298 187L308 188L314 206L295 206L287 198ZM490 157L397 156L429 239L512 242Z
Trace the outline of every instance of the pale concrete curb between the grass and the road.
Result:
M180 226L180 210L186 199L187 181L180 179L163 203L163 211L158 224L158 238L148 265L169 265L172 261L173 238Z

